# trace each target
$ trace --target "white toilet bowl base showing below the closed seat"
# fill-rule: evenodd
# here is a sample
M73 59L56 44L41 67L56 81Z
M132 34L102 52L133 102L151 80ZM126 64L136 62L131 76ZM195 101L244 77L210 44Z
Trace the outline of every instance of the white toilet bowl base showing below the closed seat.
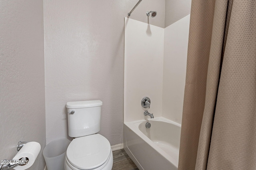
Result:
M108 158L108 160L104 164L102 164L99 167L90 169L90 170L112 170L112 166L113 166L113 153L112 153L112 150L111 150L110 157ZM65 167L64 168L65 168L65 170L81 170L81 169L78 169L78 168L72 166L68 162L67 158L65 158Z

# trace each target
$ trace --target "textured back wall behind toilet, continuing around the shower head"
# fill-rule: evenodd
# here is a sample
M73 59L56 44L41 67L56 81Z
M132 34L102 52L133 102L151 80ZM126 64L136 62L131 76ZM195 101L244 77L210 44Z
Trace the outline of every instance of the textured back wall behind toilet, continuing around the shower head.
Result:
M95 99L103 102L100 134L122 143L124 17L137 2L44 0L47 143L68 137L66 102ZM142 1L130 18L163 27L164 0Z

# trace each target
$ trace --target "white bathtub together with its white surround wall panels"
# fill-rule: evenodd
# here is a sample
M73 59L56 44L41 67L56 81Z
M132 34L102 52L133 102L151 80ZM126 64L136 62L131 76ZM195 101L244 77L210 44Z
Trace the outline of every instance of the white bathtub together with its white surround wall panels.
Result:
M189 19L163 29L125 18L124 150L141 170L178 168Z

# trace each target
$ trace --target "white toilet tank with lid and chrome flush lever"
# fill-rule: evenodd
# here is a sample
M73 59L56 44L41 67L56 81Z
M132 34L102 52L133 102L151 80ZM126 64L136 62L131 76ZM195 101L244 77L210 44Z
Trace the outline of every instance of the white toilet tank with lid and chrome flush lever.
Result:
M82 137L100 131L101 106L100 100L68 102L68 135Z

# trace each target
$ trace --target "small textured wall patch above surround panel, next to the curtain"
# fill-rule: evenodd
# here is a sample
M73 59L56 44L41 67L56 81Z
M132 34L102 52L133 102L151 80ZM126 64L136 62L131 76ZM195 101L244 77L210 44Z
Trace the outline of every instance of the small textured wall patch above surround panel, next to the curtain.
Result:
M165 0L164 27L190 14L190 8L191 0Z

